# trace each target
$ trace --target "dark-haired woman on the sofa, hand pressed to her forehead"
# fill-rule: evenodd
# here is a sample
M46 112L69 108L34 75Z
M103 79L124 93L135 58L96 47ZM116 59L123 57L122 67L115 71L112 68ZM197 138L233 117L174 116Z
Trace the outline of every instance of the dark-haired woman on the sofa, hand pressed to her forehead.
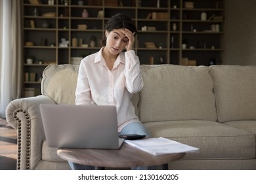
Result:
M131 103L143 87L140 62L133 50L137 29L131 18L116 14L106 24L103 47L81 60L75 91L76 105L115 105L121 135L137 133L150 137ZM126 52L123 52L125 50ZM94 169L70 163L72 169Z

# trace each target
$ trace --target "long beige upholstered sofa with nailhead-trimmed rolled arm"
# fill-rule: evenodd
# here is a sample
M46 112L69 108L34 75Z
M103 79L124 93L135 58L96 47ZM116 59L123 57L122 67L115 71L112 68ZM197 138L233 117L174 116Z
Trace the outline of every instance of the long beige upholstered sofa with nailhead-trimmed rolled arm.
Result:
M42 95L16 99L7 121L18 131L17 169L69 169L49 148L39 104L74 105L78 65L49 65ZM137 115L154 137L200 148L169 169L256 169L256 67L141 65ZM100 73L99 73L100 74Z

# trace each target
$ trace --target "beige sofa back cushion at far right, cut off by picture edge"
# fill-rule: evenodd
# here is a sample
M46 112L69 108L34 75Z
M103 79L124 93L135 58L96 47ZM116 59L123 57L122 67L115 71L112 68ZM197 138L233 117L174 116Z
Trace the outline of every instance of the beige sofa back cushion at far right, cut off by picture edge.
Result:
M256 67L210 67L219 122L256 120Z

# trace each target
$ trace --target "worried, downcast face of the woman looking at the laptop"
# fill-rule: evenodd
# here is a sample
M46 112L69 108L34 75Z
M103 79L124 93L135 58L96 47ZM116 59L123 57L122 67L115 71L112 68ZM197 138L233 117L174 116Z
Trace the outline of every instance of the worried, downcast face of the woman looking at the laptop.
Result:
M113 29L106 31L106 48L110 54L117 55L125 49L129 39L121 32L122 29Z

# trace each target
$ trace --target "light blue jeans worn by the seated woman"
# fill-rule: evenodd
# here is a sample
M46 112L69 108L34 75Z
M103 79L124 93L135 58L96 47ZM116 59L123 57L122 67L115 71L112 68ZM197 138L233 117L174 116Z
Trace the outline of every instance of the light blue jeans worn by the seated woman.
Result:
M133 134L137 133L139 135L146 135L146 137L151 137L150 132L144 125L142 125L140 122L134 122L131 124L126 125L123 127L123 129L120 131L121 135L125 134ZM89 166L89 165L81 165L78 163L73 163L71 161L68 161L68 164L70 165L72 170L94 170L94 166ZM150 167L134 167L131 169L137 169L137 170L147 170L147 169L157 169L156 166L150 166Z

